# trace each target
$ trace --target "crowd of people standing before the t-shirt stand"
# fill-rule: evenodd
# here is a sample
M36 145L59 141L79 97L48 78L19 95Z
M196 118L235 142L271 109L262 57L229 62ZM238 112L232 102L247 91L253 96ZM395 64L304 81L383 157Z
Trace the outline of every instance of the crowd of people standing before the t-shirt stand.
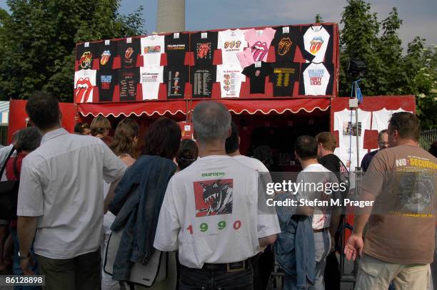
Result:
M437 274L436 152L418 146L411 113L394 113L378 135L380 150L363 157L356 192L375 203L357 209L344 247L343 207L264 209L271 150L241 155L238 126L221 103L194 108L196 141L159 118L141 152L134 119L121 120L114 137L103 116L70 134L58 101L44 92L29 98L26 113L31 127L0 149L2 181L19 182L17 217L0 219L0 271L13 264L13 274L45 275L48 290L258 290L278 268L283 289L340 289L338 253L361 257L356 289L424 290ZM290 150L302 167L296 180L343 182L331 196L342 200L351 176L335 148L335 136L323 132L298 137Z

